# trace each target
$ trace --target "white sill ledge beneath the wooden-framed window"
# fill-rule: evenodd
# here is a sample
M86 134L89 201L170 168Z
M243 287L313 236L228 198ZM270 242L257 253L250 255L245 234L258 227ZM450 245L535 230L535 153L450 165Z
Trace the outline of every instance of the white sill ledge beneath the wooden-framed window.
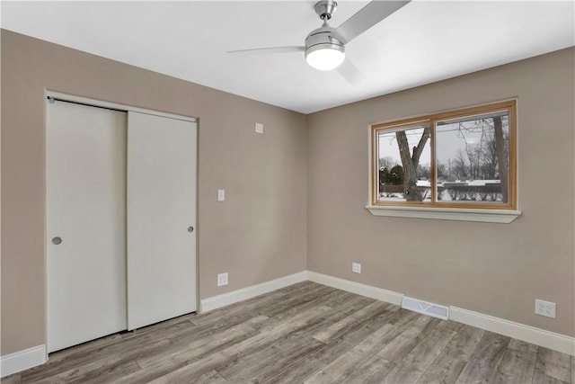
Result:
M439 219L457 221L480 221L484 223L509 224L521 215L520 210L477 210L464 208L420 208L367 205L374 216L394 218Z

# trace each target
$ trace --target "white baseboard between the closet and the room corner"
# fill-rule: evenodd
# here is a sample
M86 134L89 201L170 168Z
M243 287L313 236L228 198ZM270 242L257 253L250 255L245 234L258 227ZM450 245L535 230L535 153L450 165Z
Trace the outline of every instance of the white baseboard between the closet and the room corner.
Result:
M306 280L307 271L302 271L290 274L288 276L280 277L279 279L261 282L260 284L245 287L241 290L232 290L231 292L227 292L222 295L213 296L208 299L201 299L199 300L199 313L204 313L216 308L225 307L245 299L252 299L272 290L279 290L280 288L287 287L288 285L295 284L296 282Z

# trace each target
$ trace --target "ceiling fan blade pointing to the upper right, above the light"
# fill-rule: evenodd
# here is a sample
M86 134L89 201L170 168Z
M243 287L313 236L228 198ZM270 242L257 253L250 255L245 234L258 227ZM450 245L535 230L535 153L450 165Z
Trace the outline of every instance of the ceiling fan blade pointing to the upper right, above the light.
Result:
M336 28L335 34L348 43L410 1L372 1Z

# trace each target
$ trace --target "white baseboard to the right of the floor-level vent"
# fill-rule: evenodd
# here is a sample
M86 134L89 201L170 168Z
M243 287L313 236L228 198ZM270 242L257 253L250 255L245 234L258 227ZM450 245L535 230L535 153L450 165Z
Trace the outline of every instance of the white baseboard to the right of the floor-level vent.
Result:
M535 328L535 326L526 326L525 324L463 308L450 307L449 310L450 320L575 356L575 337L556 334L541 328Z

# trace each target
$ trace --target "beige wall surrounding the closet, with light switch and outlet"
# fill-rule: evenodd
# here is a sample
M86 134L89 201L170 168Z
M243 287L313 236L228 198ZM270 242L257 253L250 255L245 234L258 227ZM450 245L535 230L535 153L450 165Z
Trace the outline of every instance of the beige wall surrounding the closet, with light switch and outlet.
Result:
M45 343L44 89L199 117L200 298L305 270L305 115L2 31L2 355Z

